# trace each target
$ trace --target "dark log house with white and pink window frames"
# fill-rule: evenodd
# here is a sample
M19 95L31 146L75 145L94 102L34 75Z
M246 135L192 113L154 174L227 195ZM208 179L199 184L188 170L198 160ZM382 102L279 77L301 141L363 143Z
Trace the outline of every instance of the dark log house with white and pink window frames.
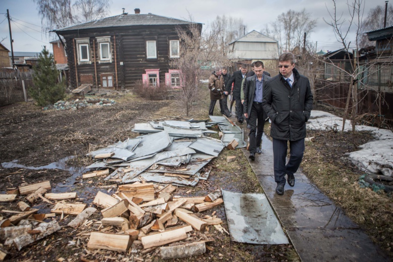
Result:
M65 41L72 87L179 86L180 71L169 66L181 56L177 30L202 24L137 11L54 30Z

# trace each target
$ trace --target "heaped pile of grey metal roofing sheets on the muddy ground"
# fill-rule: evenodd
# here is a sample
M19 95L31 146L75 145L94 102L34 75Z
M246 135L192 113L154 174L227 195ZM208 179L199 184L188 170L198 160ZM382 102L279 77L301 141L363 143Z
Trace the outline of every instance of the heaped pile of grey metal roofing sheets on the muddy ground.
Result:
M133 131L146 135L89 152L87 155L93 158L104 153L108 158L97 160L87 168L114 169L105 180L121 183L144 180L195 186L200 179L209 177L210 170L204 167L225 147L222 141L205 136L217 133L207 126L197 121L138 123Z

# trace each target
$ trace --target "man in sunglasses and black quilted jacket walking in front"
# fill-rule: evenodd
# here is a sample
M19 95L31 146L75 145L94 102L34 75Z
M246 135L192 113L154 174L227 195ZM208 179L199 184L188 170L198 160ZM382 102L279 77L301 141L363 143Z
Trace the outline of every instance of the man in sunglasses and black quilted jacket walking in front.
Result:
M285 175L288 184L295 185L294 173L303 159L306 122L312 110L310 82L295 69L292 53L279 58L280 74L270 79L264 89L262 106L272 121L274 177L276 193L284 194ZM290 158L287 164L288 142Z

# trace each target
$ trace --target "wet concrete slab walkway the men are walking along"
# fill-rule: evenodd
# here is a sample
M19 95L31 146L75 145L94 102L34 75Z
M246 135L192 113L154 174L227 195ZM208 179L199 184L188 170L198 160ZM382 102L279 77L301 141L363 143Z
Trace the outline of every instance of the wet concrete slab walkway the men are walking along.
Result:
M246 128L245 123L240 127ZM247 140L248 129L244 131ZM302 261L390 261L343 211L302 173L295 174L295 186L275 193L273 144L263 137L263 154L248 159L260 185Z

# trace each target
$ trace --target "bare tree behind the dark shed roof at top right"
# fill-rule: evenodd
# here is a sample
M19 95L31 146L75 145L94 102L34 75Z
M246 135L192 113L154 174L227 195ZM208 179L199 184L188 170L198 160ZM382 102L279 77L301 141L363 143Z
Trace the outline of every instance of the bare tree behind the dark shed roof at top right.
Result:
M365 32L377 30L383 28L383 21L385 18L385 8L377 6L368 12L366 19L362 21L360 31L363 33L359 40L359 47L367 47L374 45L372 41L369 41ZM388 5L387 16L386 16L386 27L393 25L393 6Z

